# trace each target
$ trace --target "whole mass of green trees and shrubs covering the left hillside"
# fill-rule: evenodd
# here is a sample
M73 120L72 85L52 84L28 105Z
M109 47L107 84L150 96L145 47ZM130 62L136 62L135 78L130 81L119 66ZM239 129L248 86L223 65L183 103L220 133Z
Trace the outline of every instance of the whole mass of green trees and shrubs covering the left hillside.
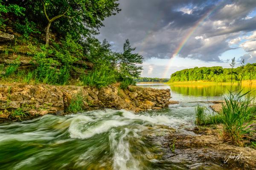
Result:
M9 65L5 77L17 73L16 77L12 76L15 81L64 85L71 76L75 78L82 74L80 78L84 85L98 88L115 82L121 82L122 88L133 84L132 79L139 77L142 70L142 66L137 65L142 63L142 56L134 53L135 48L131 48L128 40L125 41L124 51L119 53L112 51L107 40L99 42L93 37L103 26L102 21L106 17L120 11L117 1L8 0L3 3L0 0L0 14L12 12L26 16L17 17L15 22L10 21L8 24L23 34L23 39L15 39L15 45L16 40L22 45L28 43L26 54L32 56L31 62L34 65L31 71L21 71L18 65ZM44 29L44 26L47 28ZM42 45L41 36L36 33L40 34L38 30L46 30L49 34L50 26L51 35L57 36L51 40L50 45ZM6 55L9 52L6 48ZM93 63L91 71L85 70L88 61Z

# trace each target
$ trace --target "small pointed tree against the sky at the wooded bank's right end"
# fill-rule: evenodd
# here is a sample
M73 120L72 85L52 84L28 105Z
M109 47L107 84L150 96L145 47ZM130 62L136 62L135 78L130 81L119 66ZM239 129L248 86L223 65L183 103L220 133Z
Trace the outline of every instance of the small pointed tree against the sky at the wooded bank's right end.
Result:
M119 60L119 69L122 75L126 77L138 78L140 77L141 71L143 70L142 66L137 64L143 63L143 56L138 53L132 54L136 48L131 48L129 40L125 40L123 46L123 53L120 55Z

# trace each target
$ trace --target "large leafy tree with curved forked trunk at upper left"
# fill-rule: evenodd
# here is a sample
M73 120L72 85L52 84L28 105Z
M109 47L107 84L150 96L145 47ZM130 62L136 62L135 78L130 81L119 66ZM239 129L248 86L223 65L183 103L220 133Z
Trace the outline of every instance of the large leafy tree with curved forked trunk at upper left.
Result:
M120 11L118 0L9 0L26 8L26 16L40 24L46 24L46 44L49 43L49 29L62 35L70 34L79 40L81 36L97 34L104 26L106 17ZM47 21L45 20L47 19ZM46 21L46 22L45 22Z

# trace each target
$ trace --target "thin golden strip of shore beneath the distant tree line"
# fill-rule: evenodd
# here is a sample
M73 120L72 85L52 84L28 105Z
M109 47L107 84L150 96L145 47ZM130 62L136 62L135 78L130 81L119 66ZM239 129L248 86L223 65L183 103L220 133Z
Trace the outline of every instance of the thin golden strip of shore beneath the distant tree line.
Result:
M242 85L250 85L252 82L253 85L256 85L256 80L243 80ZM237 82L233 82L237 84ZM188 82L165 82L166 85L177 85L177 84L191 84L191 85L231 85L231 82L207 82L207 81L188 81Z

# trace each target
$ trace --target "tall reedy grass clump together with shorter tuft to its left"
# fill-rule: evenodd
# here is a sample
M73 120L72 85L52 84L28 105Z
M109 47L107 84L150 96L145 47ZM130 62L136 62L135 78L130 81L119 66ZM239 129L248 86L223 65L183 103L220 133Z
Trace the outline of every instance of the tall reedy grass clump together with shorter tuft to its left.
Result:
M243 68L244 61L241 64ZM230 65L233 69L235 65L235 58L232 59L232 63ZM252 82L249 84L249 90L243 92L244 89L241 84L243 82L242 79L244 74L242 73L239 77L240 80L237 81L235 90L232 88L234 83L230 83L229 94L224 96L225 102L222 104L222 113L218 115L205 116L205 108L198 106L195 108L195 124L216 125L222 123L222 137L224 141L238 146L243 146L243 138L246 138L248 134L252 133L250 125L253 123L253 120L256 119L256 106L252 105L255 100L255 97L251 97ZM256 143L252 142L251 144L255 146Z

